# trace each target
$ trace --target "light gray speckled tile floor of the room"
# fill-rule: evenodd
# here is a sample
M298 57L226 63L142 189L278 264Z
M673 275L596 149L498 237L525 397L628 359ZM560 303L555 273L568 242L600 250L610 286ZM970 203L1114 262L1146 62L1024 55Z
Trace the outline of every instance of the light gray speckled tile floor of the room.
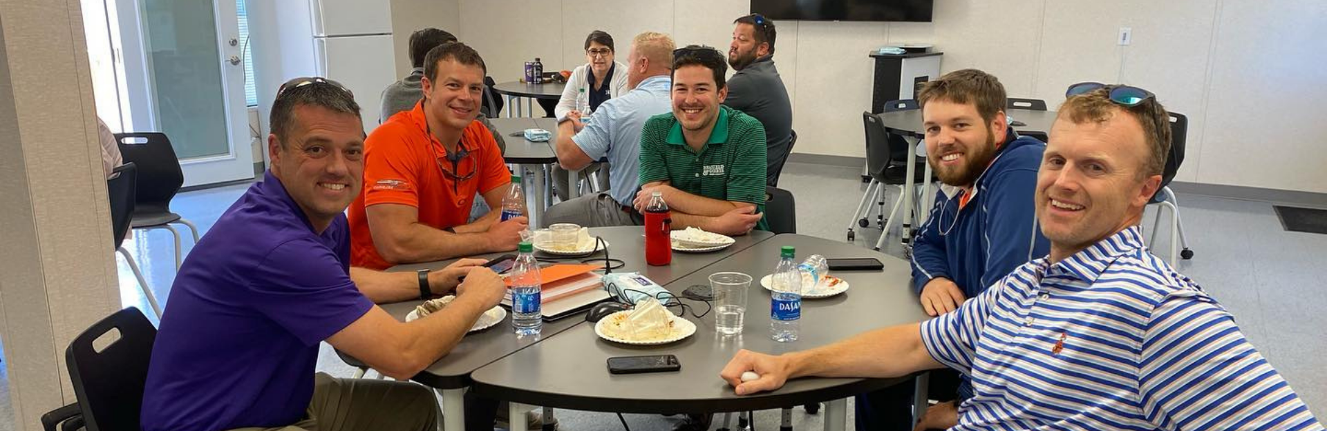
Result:
M780 182L798 198L799 233L844 241L848 214L865 188L859 173L860 168L788 163ZM173 208L206 233L245 188L231 185L180 193ZM890 193L890 198L896 196ZM1320 284L1327 279L1327 266L1319 263L1319 256L1327 251L1327 235L1283 231L1269 202L1181 194L1180 204L1189 246L1196 253L1192 260L1178 264L1180 271L1198 280L1230 309L1249 340L1290 381L1310 410L1327 414L1327 374L1322 372L1327 369L1327 337L1322 336L1322 328L1327 328L1327 313L1322 312L1327 309L1327 290ZM1152 214L1149 209L1145 226L1151 226ZM187 253L192 241L187 231L183 234ZM877 229L859 229L856 241L869 247L878 235ZM125 247L166 304L175 275L170 234L163 230L137 233ZM1168 247L1166 241L1158 238L1156 249ZM885 251L901 255L902 249L893 238ZM149 309L123 262L119 283L126 307ZM344 377L353 372L325 344L317 368ZM612 414L559 411L557 416L561 430L621 430ZM12 428L11 418L8 379L0 369L0 430ZM669 430L675 422L658 415L626 415L626 420L633 430ZM778 411L756 414L759 428L775 428L778 420ZM794 426L819 430L821 419L796 409Z

